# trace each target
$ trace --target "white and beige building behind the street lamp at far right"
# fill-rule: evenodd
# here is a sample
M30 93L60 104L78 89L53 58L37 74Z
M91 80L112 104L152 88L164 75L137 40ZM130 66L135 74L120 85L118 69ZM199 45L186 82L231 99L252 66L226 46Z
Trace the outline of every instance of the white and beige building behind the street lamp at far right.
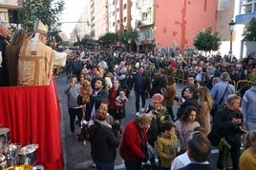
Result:
M243 41L245 25L256 17L255 0L219 0L217 15L217 31L222 36L220 52L228 54L230 51L230 29L229 23L233 20L236 25L233 30L232 55L239 58L246 57L249 53L256 51L255 42Z

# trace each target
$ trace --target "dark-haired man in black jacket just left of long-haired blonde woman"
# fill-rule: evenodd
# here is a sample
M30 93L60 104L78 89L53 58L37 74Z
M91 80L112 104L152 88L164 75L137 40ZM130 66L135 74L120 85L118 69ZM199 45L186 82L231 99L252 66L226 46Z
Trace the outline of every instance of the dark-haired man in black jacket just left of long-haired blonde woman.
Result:
M184 102L177 101L177 105L180 106L177 111L177 118L181 118L184 110L189 105L193 105L196 108L199 108L199 103L196 96L197 96L197 89L195 86L189 85L185 87L184 94L183 94L183 98L185 99L185 101Z

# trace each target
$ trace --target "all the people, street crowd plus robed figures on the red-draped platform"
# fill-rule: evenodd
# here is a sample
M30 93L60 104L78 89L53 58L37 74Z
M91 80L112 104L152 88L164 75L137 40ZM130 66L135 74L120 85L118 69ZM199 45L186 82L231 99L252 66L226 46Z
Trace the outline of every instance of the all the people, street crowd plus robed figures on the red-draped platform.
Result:
M53 65L63 61L58 61L58 53L45 46L46 33L45 28L37 28L34 37L25 41L26 33L17 30L11 39L13 46L17 46L14 51L5 41L11 34L0 25L1 86L49 85ZM40 58L43 51L47 52L46 58ZM14 77L8 70L12 68L11 64L8 66L11 52L16 57L11 63L17 68L14 72L18 75ZM60 58L66 60L70 129L75 136L75 123L87 123L83 140L91 142L97 169L114 169L118 146L128 170L141 169L143 161L149 162L152 169L216 169L207 160L211 146L221 148L223 142L228 145L233 169L256 168L256 85L239 94L234 86L240 80L256 80L255 56L238 61L220 54L168 58L152 52L82 49L67 53L67 60ZM37 62L46 70L29 66L34 62L31 56L38 58ZM176 80L172 76L177 68L186 75L181 96L176 94ZM126 103L132 95L135 119L122 124ZM146 105L147 98L151 98L151 105ZM177 113L174 104L179 106ZM241 156L243 135L246 144ZM216 165L219 169L225 165L222 151Z

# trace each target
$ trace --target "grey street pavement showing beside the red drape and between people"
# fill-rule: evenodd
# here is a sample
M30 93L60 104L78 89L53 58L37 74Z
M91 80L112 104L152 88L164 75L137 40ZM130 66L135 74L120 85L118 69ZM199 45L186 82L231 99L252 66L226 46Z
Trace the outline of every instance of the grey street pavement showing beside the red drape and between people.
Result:
M62 133L62 146L64 152L64 161L65 161L65 169L64 170L93 170L96 168L92 168L92 158L90 155L90 143L89 142L78 142L77 135L73 136L70 131L70 119L67 107L67 96L64 93L65 88L68 85L67 76L64 74L59 75L56 79L59 104L61 108L61 133ZM177 95L181 96L182 85L177 84ZM136 108L135 108L135 97L134 91L132 96L129 98L129 101L126 103L126 118L122 120L121 128L124 129L125 124L133 120L136 116ZM148 99L146 106L151 103L151 100ZM174 104L174 113L177 112L177 104ZM75 129L75 133L79 133L78 126ZM210 162L215 165L216 162L216 149L212 150L212 156ZM156 157L157 158L157 157ZM115 169L125 169L124 161L119 156L119 152L117 149L117 159L115 161Z

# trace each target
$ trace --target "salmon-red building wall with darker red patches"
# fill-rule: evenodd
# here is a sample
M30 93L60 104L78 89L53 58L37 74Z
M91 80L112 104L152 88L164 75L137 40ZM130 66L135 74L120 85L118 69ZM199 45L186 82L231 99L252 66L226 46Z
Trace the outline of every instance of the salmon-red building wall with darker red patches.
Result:
M194 47L199 31L216 31L218 0L157 0L156 41L161 47Z

